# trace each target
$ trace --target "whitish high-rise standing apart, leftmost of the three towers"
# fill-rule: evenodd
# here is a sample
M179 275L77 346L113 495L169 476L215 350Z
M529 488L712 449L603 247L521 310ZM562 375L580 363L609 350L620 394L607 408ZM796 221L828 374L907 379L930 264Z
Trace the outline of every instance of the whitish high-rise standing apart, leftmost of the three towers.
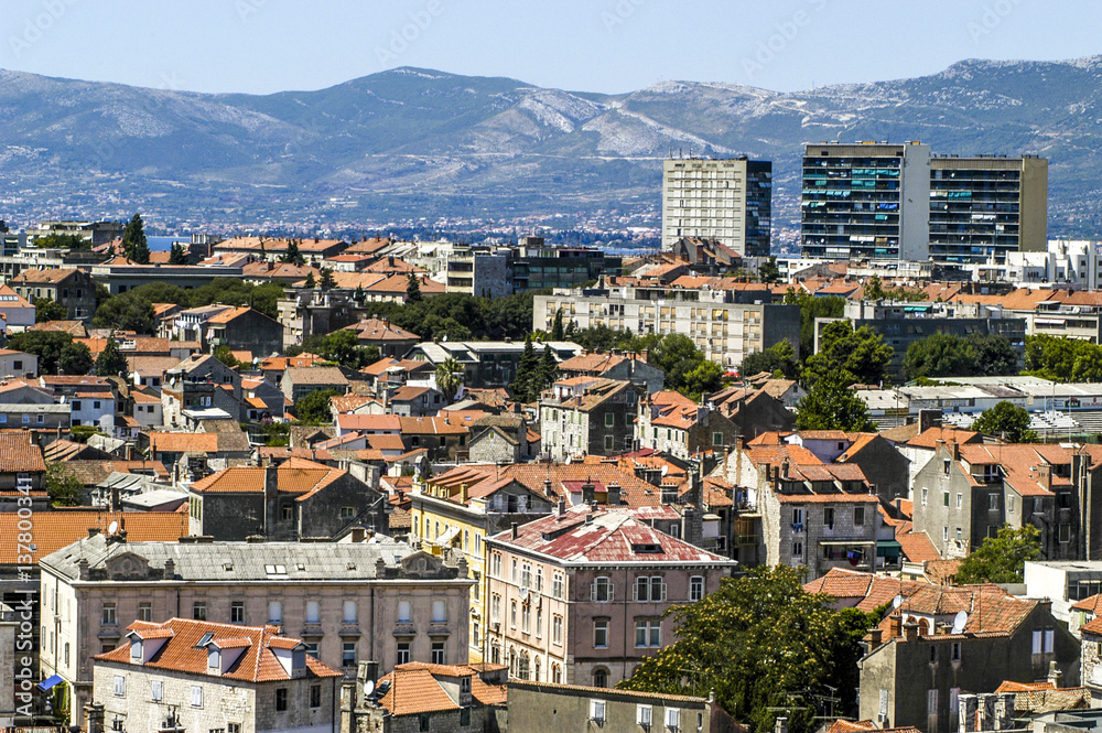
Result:
M745 157L671 159L662 166L662 249L717 239L744 257L769 255L773 163Z

